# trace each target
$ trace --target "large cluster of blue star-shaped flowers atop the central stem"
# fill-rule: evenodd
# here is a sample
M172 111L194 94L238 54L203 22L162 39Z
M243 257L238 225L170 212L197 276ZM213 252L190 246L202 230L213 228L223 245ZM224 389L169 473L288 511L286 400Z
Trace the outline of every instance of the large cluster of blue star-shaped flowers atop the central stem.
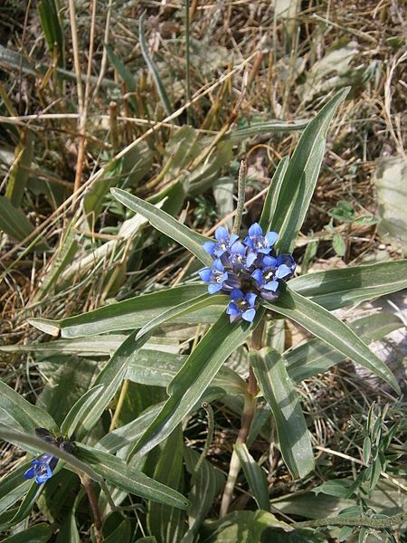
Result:
M279 281L287 281L296 269L291 254L276 255L273 245L279 234L263 235L260 224L251 224L249 235L241 243L236 233L229 235L220 226L215 242L204 243L204 251L213 257L211 268L199 272L208 283L208 292L228 292L231 301L226 313L231 322L244 319L251 322L256 315L258 296L265 300L279 297Z

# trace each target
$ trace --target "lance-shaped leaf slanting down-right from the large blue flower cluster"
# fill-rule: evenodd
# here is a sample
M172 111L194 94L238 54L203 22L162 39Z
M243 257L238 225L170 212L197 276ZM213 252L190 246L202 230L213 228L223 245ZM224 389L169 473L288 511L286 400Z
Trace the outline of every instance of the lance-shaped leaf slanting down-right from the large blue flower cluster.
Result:
M356 364L366 367L376 376L381 377L383 381L393 386L397 394L400 394L397 379L382 360L374 355L345 322L337 319L315 301L308 300L298 292L281 285L279 299L273 303L263 300L262 304L270 310L295 320L311 334L336 348L345 357L351 358Z

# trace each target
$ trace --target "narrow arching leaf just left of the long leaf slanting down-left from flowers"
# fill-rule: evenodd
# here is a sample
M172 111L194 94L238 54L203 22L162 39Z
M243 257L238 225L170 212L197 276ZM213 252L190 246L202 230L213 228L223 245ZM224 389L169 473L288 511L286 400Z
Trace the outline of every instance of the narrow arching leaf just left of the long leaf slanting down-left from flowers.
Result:
M109 405L112 397L117 393L123 379L126 378L128 365L131 360L137 357L138 350L146 343L147 335L143 338L136 339L137 330L128 336L128 338L120 345L118 350L110 358L108 364L100 371L96 377L92 389L102 386L102 390L95 391L92 401L88 404L90 391L87 393L87 400L80 398L79 405L73 405L71 412L67 414L67 422L63 422L62 426L73 427L76 424L75 433L80 439L80 435L89 432L91 428L99 421L99 418L106 407ZM88 408L83 409L84 403ZM73 419L73 420L72 420Z

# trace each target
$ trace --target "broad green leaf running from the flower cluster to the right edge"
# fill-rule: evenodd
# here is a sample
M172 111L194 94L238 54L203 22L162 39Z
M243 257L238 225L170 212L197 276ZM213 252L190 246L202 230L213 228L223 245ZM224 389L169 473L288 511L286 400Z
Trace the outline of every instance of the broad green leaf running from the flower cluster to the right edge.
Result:
M289 288L326 310L337 310L407 288L407 260L316 271L292 279Z

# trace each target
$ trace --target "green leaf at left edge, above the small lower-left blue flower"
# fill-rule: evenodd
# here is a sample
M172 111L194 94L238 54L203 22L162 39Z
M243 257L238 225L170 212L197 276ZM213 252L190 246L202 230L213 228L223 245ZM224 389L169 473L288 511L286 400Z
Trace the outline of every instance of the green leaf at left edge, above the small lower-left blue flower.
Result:
M13 388L0 381L0 423L34 433L35 428L46 428L58 432L58 425L51 414L40 407L30 404Z

